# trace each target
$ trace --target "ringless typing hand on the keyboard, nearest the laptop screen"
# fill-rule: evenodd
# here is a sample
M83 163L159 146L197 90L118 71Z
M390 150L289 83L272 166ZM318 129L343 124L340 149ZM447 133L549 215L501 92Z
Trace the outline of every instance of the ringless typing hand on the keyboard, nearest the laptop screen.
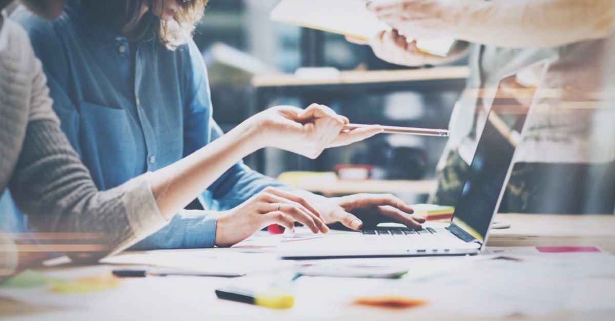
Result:
M329 198L319 204L326 223L341 222L347 228L375 228L378 223L398 222L410 228L421 228L425 218L391 194L355 194Z

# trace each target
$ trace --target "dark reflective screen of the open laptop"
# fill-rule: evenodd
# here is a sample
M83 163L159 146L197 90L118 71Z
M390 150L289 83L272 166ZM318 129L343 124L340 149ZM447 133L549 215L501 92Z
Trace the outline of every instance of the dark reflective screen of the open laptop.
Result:
M539 64L502 79L486 117L451 222L480 242L484 242L499 204L502 186L545 67L546 64Z

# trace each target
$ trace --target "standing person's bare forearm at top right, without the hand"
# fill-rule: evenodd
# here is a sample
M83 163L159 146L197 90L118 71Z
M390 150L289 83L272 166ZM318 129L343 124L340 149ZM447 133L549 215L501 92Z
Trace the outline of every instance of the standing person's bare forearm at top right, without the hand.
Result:
M557 47L609 36L615 0L493 0L450 4L455 39L500 47Z

